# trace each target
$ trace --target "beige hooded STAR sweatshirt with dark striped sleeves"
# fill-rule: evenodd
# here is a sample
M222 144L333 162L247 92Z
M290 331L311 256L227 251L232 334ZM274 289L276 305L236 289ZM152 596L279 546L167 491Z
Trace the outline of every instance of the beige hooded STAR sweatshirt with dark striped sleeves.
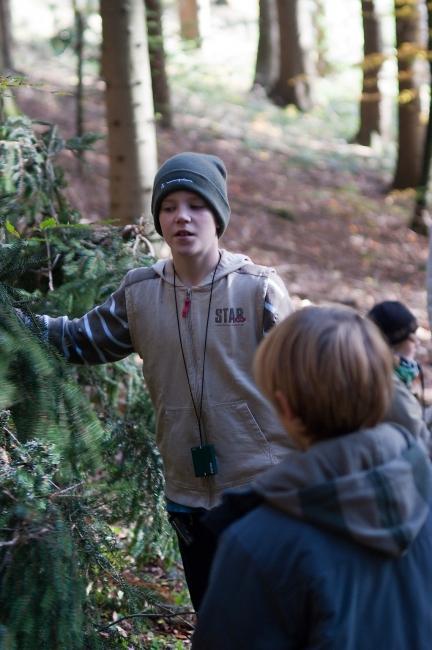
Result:
M273 269L222 251L209 311L212 275L192 289L177 278L178 321L173 266L165 260L130 271L103 305L80 319L44 317L49 339L73 362L104 363L131 352L141 357L166 496L204 508L216 505L226 488L252 481L291 448L252 378L257 345L292 310L288 293ZM201 441L191 392L199 412L207 316L202 443L214 445L218 472L198 478L191 448Z

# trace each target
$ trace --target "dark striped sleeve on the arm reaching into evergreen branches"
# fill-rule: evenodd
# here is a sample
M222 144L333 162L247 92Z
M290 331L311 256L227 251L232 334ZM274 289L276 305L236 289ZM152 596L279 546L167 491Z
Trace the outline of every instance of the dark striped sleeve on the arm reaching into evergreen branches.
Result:
M123 285L81 318L42 318L48 341L72 363L107 363L133 352Z

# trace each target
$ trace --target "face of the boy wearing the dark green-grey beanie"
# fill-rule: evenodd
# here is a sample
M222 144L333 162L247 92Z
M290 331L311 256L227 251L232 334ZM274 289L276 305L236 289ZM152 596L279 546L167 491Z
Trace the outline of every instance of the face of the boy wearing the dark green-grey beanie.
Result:
M161 203L159 223L174 257L202 256L219 246L213 213L195 192L168 194Z

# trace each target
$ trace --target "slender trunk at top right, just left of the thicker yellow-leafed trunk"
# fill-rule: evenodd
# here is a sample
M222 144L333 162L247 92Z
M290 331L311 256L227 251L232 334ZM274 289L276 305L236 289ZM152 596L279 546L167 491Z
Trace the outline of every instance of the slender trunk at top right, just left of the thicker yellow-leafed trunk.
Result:
M372 134L381 133L381 93L378 76L383 62L383 48L374 0L362 0L361 7L364 34L363 87L360 126L354 142L369 147Z

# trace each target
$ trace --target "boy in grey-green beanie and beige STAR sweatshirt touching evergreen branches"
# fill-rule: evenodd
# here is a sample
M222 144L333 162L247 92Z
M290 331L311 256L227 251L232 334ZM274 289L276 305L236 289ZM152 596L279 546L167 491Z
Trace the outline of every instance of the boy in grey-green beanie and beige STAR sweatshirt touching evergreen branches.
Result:
M41 317L50 342L73 363L141 357L167 510L196 610L215 550L202 515L226 488L250 483L291 447L252 377L258 343L291 302L274 269L219 247L230 217L226 176L213 155L167 160L155 177L152 213L172 258L130 271L81 318Z

